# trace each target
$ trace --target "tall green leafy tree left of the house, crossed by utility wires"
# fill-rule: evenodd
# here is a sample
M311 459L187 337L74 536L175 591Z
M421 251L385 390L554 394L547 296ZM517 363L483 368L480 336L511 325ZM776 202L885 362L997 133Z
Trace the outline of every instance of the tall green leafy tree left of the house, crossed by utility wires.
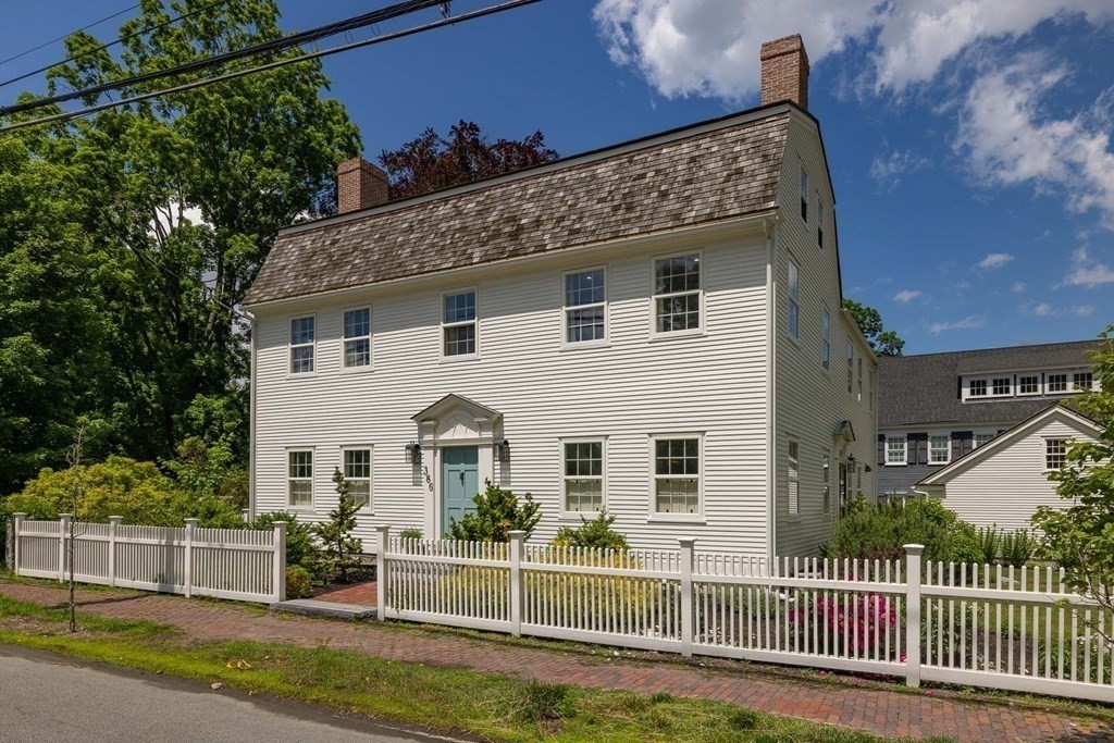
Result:
M144 0L120 36L203 4ZM276 39L277 19L273 0L233 0L129 38L118 58L99 51L56 68L51 86L119 80ZM70 56L97 46L84 32L67 40ZM328 85L320 62L305 61L76 120L59 135L72 143L65 157L37 148L57 167L79 164L72 186L91 199L82 227L111 275L87 280L117 329L105 412L129 456L169 458L199 436L226 437L246 457L248 339L234 307L277 229L330 208L336 164L360 150L343 106L321 95Z

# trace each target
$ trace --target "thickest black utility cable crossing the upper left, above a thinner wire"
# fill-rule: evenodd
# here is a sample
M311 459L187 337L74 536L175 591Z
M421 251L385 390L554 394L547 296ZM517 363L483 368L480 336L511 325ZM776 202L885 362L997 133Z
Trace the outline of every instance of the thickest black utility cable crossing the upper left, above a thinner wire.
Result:
M53 104L60 104L67 100L75 100L77 98L97 96L100 95L101 92L107 92L109 90L116 90L125 87L133 87L136 85L141 85L144 82L158 80L174 75L182 75L183 72L192 72L194 70L216 67L218 65L223 65L225 62L229 62L236 59L243 59L245 57L254 57L256 55L282 51L284 49L290 49L292 47L300 47L304 43L309 43L310 41L316 41L319 39L324 39L330 36L343 33L344 31L362 28L364 26L371 26L372 23L390 20L392 18L399 18L400 16L418 12L419 10L424 10L427 8L441 6L442 2L443 0L405 0L405 2L399 2L393 6L388 6L387 8L381 8L379 10L374 10L369 13L363 13L362 16L354 16L352 18L346 18L342 21L336 21L334 23L329 23L326 26L319 26L317 28L310 29L309 31L292 33L290 36L282 37L280 39L274 39L272 41L264 41L263 43L256 43L251 47L244 47L243 49L228 51L223 55L216 55L214 57L205 57L203 59L195 59L193 61L178 65L177 67L170 67L164 70L155 70L153 72L137 75L135 77L130 77L125 80L105 82L102 85L96 85L90 88L84 88L81 90L75 90L72 92L63 92L57 96L51 96L49 98L38 98L36 100L30 100L22 104L6 106L0 108L0 116L18 114L20 111L33 110L36 108L42 108L45 106L51 106Z

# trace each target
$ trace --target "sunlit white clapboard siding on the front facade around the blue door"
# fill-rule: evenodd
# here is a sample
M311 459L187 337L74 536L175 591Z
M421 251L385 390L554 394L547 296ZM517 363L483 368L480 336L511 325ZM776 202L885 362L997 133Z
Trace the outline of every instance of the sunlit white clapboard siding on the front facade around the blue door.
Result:
M651 340L653 257L697 248L705 333ZM563 350L561 272L598 265L607 267L609 344ZM558 518L559 439L606 437L607 506L634 546L675 547L687 536L704 549L764 554L765 266L765 238L751 224L715 239L622 244L368 289L343 300L256 307L255 509L286 508L286 450L312 448L314 508L305 518L324 517L336 501L330 478L341 447L365 444L373 448L374 501L374 512L359 518L365 549L378 524L439 536L440 493L413 483L403 448L418 439L411 417L457 393L504 414L511 460L496 472L505 487L531 492L541 504L532 541L549 539L563 522L579 524ZM444 361L441 293L463 286L478 290L479 358ZM365 304L372 369L342 372L342 310ZM316 315L316 371L291 378L289 322L303 312ZM651 517L648 437L670 432L704 434L700 522Z

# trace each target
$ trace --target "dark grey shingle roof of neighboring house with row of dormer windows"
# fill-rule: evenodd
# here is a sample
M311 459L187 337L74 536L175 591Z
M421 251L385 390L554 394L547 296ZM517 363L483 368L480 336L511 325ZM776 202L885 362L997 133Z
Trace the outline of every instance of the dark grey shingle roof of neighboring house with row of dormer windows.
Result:
M1100 345L1100 341L1075 341L917 356L879 356L878 428L929 423L1016 423L1047 408L1052 399L962 402L959 399L959 377L978 372L1089 366L1087 352Z

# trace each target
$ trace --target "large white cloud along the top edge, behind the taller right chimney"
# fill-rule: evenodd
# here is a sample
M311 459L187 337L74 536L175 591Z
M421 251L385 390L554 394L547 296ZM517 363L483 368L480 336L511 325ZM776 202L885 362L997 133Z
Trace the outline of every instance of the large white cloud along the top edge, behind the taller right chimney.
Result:
M759 47L800 33L815 66L849 43L870 53L868 87L931 80L980 39L1014 38L1049 19L1114 18L1110 0L599 0L593 17L612 59L667 97L737 101L759 89Z

